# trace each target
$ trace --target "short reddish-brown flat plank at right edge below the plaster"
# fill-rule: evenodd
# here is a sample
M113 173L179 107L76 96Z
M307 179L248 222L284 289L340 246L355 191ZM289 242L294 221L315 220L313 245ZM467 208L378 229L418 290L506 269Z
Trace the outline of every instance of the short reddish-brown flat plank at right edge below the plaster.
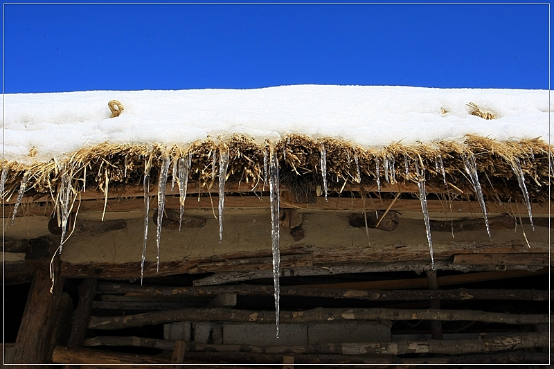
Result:
M454 255L452 264L469 265L548 265L548 253L480 253Z

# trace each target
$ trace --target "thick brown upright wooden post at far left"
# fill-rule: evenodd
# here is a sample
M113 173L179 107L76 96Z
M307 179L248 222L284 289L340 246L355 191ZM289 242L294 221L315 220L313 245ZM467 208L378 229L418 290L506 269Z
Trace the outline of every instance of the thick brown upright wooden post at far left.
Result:
M26 260L35 268L35 276L17 332L13 363L46 363L50 359L48 346L60 316L58 306L64 285L60 278L60 257L56 256L53 262L55 284L52 286L48 268L55 247L41 250L40 253L36 251L32 255L26 255Z

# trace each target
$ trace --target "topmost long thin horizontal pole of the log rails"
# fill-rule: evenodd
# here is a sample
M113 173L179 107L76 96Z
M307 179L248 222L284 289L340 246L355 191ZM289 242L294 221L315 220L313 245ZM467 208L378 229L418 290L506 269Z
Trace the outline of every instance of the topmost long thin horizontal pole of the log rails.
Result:
M238 285L221 287L163 287L141 286L120 283L99 283L98 291L105 293L136 293L152 296L218 296L237 294L241 296L273 296L273 286ZM548 291L532 289L447 289L447 290L349 290L309 287L280 287L281 296L305 296L325 298L354 298L370 301L393 300L548 300ZM552 296L554 298L554 296Z

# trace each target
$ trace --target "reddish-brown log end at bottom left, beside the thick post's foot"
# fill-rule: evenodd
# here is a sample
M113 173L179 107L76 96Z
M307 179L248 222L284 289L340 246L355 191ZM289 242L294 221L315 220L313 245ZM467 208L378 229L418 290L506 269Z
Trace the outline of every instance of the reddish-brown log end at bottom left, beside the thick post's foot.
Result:
M52 354L54 363L66 364L169 364L168 359L147 355L122 354L91 350L89 348L69 348L57 346Z

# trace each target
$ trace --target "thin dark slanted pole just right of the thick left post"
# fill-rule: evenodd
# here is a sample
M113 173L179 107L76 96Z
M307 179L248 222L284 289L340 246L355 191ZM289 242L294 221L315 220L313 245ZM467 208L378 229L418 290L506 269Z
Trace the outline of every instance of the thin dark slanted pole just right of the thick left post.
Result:
M75 310L75 318L71 327L71 334L67 345L71 348L79 348L87 334L87 325L91 316L92 302L96 294L96 279L86 278L79 286L79 303Z

